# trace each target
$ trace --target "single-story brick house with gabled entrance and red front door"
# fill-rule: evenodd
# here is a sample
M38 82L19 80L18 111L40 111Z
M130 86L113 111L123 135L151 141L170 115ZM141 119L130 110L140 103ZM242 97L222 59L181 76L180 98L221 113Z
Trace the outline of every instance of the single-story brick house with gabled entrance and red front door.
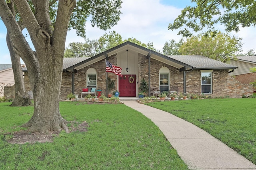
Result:
M122 77L106 72L105 59L122 68ZM251 95L250 84L242 84L228 75L236 68L202 56L166 56L127 41L94 57L64 58L60 99L66 99L71 92L80 96L86 87L96 87L106 95L107 76L116 80L120 97L138 97L143 78L149 87L160 91L204 93L212 97ZM24 74L26 89L30 91L28 74Z

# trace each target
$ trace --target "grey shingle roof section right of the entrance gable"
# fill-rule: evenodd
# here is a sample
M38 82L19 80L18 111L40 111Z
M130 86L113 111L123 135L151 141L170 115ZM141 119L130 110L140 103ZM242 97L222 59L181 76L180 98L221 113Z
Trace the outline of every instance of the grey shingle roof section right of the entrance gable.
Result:
M200 55L169 55L168 57L193 66L194 69L237 68L231 64L222 63Z

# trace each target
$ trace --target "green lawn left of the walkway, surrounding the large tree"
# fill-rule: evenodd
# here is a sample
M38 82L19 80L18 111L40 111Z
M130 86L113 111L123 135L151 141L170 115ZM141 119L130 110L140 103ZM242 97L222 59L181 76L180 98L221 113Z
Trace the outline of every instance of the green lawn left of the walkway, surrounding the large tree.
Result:
M159 128L123 104L60 102L68 121L86 121L87 132L62 131L52 143L10 144L33 107L0 103L0 169L188 169Z

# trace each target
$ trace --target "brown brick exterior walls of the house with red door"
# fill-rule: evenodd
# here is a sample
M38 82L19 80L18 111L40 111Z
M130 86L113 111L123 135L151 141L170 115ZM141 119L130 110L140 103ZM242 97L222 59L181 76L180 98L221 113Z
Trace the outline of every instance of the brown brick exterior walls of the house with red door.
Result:
M116 65L116 55L109 57L110 63ZM170 70L170 90L172 87L178 87L178 92L183 92L183 72L178 68L162 63L160 61L150 59L150 86L159 87L159 70L162 67L167 67ZM142 79L148 82L148 59L145 55L138 54L138 82ZM102 93L107 95L106 92L106 65L105 60L98 61L97 63L86 66L80 70L75 76L74 92L81 94L82 88L86 87L86 72L89 68L95 68L97 71L97 89L102 90ZM28 81L28 74L25 72L25 85L27 91L30 91L30 84ZM116 89L118 80L114 73L108 73L108 76L116 80ZM193 70L186 72L186 91L191 94L201 94L201 74L200 70ZM242 97L243 94L250 96L252 94L252 86L249 84L242 84L231 76L228 76L228 70L213 70L212 72L212 97ZM66 99L66 96L72 92L72 73L62 73L62 84L60 90L60 99Z

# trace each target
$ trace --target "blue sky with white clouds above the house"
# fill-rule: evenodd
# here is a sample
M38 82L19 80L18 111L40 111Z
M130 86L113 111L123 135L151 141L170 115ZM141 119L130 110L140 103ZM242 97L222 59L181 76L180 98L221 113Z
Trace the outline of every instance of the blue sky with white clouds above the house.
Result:
M190 0L123 0L121 16L118 24L109 30L100 30L92 27L90 20L86 23L86 38L98 39L104 33L116 31L124 39L136 38L142 43L152 42L154 47L162 51L164 43L171 39L179 41L182 36L177 35L179 30L168 30L169 23L173 23L181 10L187 5L194 6ZM224 26L218 25L216 28L224 32ZM0 20L0 64L11 64L10 53L6 45L6 27ZM24 34L28 34L26 30ZM254 27L240 28L238 33L231 32L231 35L242 38L243 51L250 49L256 51L256 30ZM29 44L31 40L26 38ZM76 36L76 31L68 31L66 47L71 42L84 42L84 38ZM31 47L33 49L33 47ZM21 63L24 63L21 61Z

